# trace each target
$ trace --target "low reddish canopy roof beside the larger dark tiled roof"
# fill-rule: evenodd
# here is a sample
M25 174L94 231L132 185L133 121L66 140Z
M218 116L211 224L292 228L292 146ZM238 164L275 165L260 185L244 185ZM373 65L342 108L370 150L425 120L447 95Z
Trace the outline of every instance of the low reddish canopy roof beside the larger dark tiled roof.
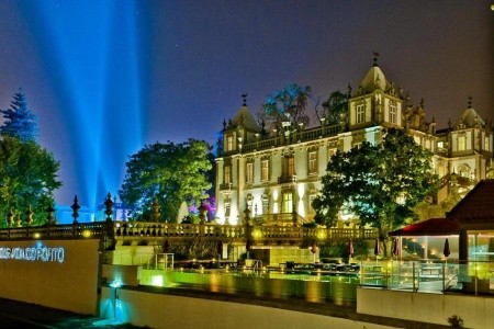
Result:
M430 218L390 232L390 236L448 236L460 232L460 223L448 218Z

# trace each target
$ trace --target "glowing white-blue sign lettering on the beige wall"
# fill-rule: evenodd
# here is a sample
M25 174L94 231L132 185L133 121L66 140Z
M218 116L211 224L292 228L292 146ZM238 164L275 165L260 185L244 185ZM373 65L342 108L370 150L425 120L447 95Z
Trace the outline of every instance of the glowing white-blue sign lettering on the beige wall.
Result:
M65 258L64 247L49 248L38 242L34 247L0 247L0 260L14 259L21 261L58 262L63 263Z

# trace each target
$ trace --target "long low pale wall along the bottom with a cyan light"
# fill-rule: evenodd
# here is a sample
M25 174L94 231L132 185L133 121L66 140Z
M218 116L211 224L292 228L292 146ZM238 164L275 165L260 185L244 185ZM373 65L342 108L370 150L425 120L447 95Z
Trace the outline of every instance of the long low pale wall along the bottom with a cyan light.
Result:
M115 291L103 287L101 294L101 317L113 317L116 302L116 317L134 326L156 329L167 328L215 328L215 329L385 329L381 325L366 324L351 319L328 317L281 308L227 303L221 300L149 294L137 291Z

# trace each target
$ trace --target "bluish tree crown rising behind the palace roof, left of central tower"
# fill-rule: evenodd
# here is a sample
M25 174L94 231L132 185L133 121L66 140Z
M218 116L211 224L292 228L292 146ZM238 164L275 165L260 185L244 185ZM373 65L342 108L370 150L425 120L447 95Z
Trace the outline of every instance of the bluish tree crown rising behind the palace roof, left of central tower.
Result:
M281 129L285 124L308 125L308 115L305 114L305 106L311 94L311 88L300 87L296 83L285 86L270 95L262 105L259 118L266 122L271 128Z

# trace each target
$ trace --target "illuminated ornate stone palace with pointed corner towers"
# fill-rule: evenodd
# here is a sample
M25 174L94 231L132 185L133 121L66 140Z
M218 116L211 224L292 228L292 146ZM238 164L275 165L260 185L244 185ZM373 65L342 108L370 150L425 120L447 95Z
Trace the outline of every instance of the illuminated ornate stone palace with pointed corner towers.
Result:
M425 116L424 103L406 105L403 91L386 80L377 63L350 92L347 115L336 125L322 118L317 127L285 123L266 132L244 101L235 117L223 124L223 150L216 158L217 222L238 224L247 208L260 223L311 222L311 204L330 157L364 140L379 143L391 127L405 128L433 151L440 178L437 202L452 191L464 195L479 180L493 177L492 125L478 115L471 100L447 128L437 129ZM348 219L340 214L338 225Z

